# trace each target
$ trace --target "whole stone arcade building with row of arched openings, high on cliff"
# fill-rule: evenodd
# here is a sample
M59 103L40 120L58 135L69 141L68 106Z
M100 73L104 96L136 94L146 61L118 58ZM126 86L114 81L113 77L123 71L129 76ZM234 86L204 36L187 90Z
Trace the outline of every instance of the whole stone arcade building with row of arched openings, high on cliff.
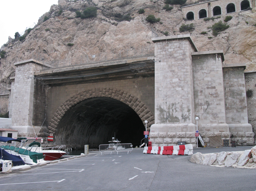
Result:
M184 18L199 20L237 13L246 10L248 7L255 7L255 0L210 0L181 8Z

